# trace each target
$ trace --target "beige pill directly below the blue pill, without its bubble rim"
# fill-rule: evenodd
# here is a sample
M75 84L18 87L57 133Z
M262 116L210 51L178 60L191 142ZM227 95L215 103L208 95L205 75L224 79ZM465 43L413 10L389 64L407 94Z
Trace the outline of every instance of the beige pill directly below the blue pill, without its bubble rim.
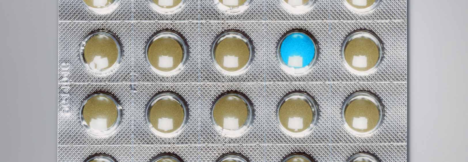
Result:
M279 122L286 130L300 133L310 127L314 112L304 96L290 96L281 104L278 112Z

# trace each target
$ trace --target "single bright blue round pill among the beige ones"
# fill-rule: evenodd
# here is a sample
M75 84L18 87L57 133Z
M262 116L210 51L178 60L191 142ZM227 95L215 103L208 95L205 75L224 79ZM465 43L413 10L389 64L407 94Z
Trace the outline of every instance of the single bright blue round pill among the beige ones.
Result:
M279 53L287 66L306 67L314 60L315 44L307 34L295 32L283 39Z

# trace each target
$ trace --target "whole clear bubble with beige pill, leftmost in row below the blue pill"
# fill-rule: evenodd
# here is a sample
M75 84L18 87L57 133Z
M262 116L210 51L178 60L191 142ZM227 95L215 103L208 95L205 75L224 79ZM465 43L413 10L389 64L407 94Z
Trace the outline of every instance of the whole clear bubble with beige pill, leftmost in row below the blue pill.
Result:
M81 125L95 136L106 136L114 132L122 122L122 107L114 96L96 92L81 104Z

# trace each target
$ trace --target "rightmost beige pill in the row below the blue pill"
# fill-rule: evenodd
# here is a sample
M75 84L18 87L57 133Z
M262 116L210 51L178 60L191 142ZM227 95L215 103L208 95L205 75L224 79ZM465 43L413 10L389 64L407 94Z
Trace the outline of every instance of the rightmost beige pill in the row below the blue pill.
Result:
M358 133L368 133L378 126L380 105L371 97L357 95L352 97L344 108L346 124Z

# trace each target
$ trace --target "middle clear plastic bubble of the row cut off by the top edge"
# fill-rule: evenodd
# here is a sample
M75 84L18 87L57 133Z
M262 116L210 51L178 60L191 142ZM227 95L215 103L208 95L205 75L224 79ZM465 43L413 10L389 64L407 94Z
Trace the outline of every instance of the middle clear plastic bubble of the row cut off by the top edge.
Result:
M219 10L228 14L240 13L249 7L252 0L214 0Z

